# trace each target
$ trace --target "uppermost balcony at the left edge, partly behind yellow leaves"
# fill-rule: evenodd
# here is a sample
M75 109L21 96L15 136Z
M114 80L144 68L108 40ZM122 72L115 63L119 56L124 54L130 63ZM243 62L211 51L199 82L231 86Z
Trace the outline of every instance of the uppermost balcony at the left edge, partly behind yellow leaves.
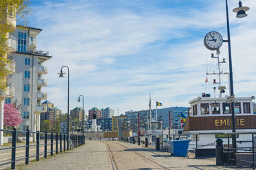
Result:
M8 25L13 30L15 30L16 29L16 9L10 8L5 11L6 11L6 14L3 14L3 16L1 17L0 24L4 26Z

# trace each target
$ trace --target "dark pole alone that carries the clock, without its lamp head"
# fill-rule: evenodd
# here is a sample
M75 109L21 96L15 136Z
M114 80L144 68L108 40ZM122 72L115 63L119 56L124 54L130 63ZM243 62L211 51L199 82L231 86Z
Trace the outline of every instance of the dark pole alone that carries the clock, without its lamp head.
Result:
M229 29L229 19L228 19L228 0L226 0L226 25L227 25L227 32L228 32L228 62L229 62L229 83L230 83L230 95L234 95L234 88L233 88L233 70L232 70L232 59L231 59L231 35ZM231 114L232 114L232 132L235 132L235 103L231 103ZM232 134L232 147L233 153L235 156L235 149L237 148L237 139L235 138L235 134Z

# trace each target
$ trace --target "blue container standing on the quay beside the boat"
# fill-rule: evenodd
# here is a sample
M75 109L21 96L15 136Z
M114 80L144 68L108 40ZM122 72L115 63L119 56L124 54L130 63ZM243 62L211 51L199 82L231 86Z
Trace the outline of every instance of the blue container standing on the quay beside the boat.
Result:
M191 140L173 140L170 141L171 155L186 157L188 154L189 142Z

